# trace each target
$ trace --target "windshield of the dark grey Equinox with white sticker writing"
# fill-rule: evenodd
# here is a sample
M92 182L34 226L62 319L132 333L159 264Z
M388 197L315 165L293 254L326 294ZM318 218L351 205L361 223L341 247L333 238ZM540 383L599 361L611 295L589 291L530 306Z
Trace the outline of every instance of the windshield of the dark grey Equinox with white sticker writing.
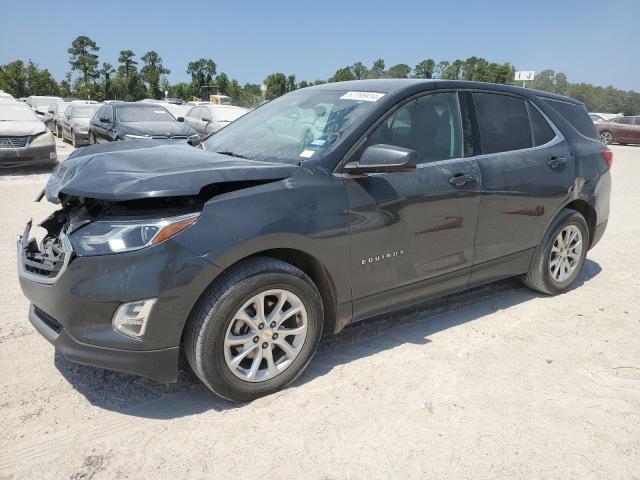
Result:
M250 159L301 162L330 152L384 94L298 90L211 135L203 148Z

